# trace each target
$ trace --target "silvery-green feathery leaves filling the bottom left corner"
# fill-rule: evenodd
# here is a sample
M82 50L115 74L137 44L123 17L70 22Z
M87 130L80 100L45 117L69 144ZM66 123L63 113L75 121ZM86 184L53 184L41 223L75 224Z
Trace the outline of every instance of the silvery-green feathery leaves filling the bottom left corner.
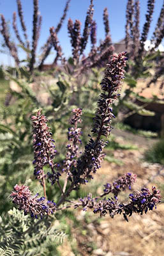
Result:
M33 220L13 208L1 218L0 255L50 256L66 237L63 227L55 218Z

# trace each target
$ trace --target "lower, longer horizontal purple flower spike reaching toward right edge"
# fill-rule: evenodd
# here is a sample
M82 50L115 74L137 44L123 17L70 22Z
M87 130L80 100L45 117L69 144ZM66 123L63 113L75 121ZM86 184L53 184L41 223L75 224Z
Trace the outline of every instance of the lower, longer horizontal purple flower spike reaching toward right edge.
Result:
M81 198L79 203L74 205L74 208L79 206L83 207L84 211L87 209L93 209L94 213L100 213L100 216L105 216L107 213L111 218L114 218L116 214L123 214L124 219L128 221L127 216L131 216L133 213L138 212L141 215L148 210L153 210L156 204L160 203L161 195L160 190L155 187L152 188L152 193L148 188L143 188L141 191L135 191L130 194L131 202L129 204L121 204L117 200L117 196L114 198L108 198L99 200L93 198L91 194Z

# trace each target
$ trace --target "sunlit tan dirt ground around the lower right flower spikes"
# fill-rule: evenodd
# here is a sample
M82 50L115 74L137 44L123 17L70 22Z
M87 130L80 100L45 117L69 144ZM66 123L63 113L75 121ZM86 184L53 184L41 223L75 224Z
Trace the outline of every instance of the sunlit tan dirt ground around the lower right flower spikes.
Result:
M164 184L164 170L160 164L149 164L143 160L143 152L150 148L154 140L135 136L128 132L115 131L117 141L120 143L133 143L137 150L115 150L114 156L123 161L123 165L104 162L101 170L95 175L94 182L105 184L117 179L126 172L137 174L137 182L132 190L140 190L144 186L152 185L160 187ZM161 171L160 171L161 170ZM160 171L160 175L159 175ZM87 189L87 188L86 188ZM97 189L100 195L102 186ZM128 197L130 191L121 195L121 200ZM126 196L125 196L126 195ZM62 256L73 255L98 255L98 256L163 256L164 251L164 200L157 209L140 216L133 214L129 222L124 221L123 216L108 216L101 218L93 212L76 211L77 220L82 227L74 225L70 221L73 239L66 240L59 251ZM74 244L77 250L73 250L70 244Z

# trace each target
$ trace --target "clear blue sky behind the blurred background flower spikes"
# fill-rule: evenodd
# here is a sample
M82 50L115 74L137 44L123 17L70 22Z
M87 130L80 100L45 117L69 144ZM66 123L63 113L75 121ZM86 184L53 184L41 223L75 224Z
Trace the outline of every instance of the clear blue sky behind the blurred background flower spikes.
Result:
M152 35L156 21L160 14L161 6L163 0L155 1L155 9L153 15L153 22L151 24L151 29L149 31L149 37ZM66 20L64 20L63 27L59 31L58 38L61 43L64 55L66 58L71 56L71 44L70 38L68 37L67 31L67 21L71 18L73 21L78 19L82 22L82 29L84 28L84 22L86 17L87 8L89 6L89 0L71 0L70 8L68 10ZM38 54L40 54L40 47L45 43L49 35L49 28L51 26L56 27L63 13L66 0L39 0L40 13L43 18L41 26L40 41L38 44ZM94 18L97 22L98 31L97 38L98 42L105 36L104 26L103 26L103 9L108 8L109 22L110 22L110 32L112 35L113 42L117 42L124 38L124 26L125 26L125 15L126 15L126 4L127 0L94 0ZM24 12L24 20L26 22L27 32L29 38L32 35L32 22L33 22L33 0L22 0L22 8ZM13 12L17 12L16 0L0 0L0 12L3 13L6 21L12 22ZM140 29L142 30L143 24L145 22L145 12L147 10L147 0L140 0ZM18 26L20 28L19 17L17 17ZM20 29L21 30L21 29ZM13 34L13 29L10 29L12 39L15 39ZM0 40L2 36L0 35ZM17 43L17 40L15 40ZM89 51L89 45L87 46L86 52ZM50 63L54 59L55 54L50 54L47 59L47 63ZM20 51L20 57L24 57L23 53ZM8 65L11 63L10 57L0 54L0 63Z

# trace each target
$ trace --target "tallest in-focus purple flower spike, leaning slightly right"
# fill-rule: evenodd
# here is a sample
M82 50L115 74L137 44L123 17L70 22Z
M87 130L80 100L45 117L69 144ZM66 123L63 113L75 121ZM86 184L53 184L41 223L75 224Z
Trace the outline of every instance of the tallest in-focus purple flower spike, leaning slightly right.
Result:
M112 113L112 103L117 99L121 80L124 78L124 67L126 65L126 52L113 54L105 69L105 77L101 81L103 93L98 100L98 109L94 117L93 134L97 135L94 140L89 135L90 140L85 147L84 154L77 161L77 172L74 175L74 184L85 184L87 179L92 179L91 173L95 173L101 166L101 161L105 154L103 148L106 142L101 139L101 136L108 136L111 130L111 120L114 118ZM83 177L82 177L83 175Z

